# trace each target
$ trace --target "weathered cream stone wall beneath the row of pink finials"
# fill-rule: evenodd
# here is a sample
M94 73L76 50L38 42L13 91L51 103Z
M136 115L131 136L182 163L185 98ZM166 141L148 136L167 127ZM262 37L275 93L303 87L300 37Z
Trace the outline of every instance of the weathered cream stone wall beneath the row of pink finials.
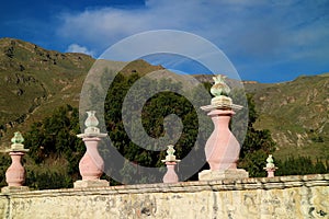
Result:
M329 174L0 195L3 218L329 218Z

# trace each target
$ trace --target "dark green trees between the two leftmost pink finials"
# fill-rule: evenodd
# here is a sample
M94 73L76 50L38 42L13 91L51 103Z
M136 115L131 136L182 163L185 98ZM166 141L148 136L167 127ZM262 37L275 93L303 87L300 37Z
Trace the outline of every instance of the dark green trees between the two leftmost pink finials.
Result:
M24 135L30 149L26 184L33 188L71 187L79 177L79 161L84 153L78 110L70 105L54 111L50 117L33 124Z

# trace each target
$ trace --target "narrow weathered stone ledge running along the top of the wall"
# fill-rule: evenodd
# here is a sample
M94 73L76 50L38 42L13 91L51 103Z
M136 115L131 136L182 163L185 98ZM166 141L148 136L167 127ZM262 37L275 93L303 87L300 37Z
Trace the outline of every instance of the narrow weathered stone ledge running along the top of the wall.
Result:
M329 174L293 175L275 177L257 177L223 181L191 181L179 183L117 185L105 187L79 187L45 191L11 191L14 197L42 197L42 196L84 196L84 195L115 195L132 193L195 193L202 191L249 191L275 189L300 186L329 186ZM0 194L1 196L1 194Z

